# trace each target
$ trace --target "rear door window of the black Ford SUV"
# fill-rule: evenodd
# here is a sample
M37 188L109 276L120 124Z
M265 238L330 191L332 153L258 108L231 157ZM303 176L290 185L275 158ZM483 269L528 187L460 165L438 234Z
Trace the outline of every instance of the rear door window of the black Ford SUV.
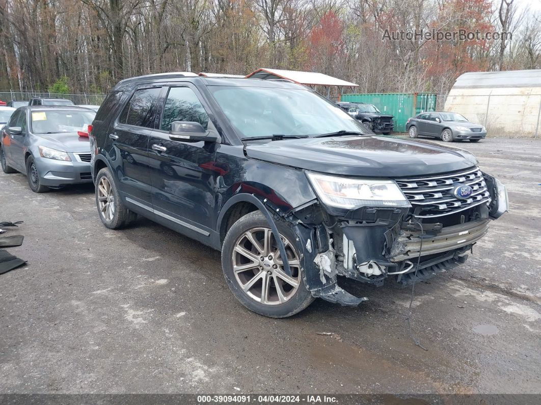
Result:
M154 109L161 88L136 90L122 114L122 124L135 125L136 127L154 128Z

